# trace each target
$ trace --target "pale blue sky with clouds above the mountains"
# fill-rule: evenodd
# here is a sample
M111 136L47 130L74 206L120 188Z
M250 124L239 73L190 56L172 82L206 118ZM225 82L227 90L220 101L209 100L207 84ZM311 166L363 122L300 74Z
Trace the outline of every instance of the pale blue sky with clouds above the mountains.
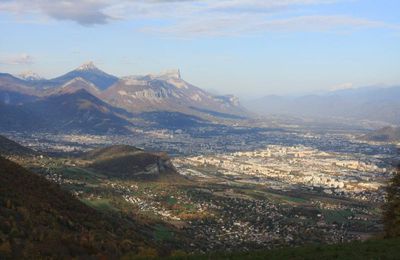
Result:
M179 68L252 98L400 85L398 0L0 0L0 72Z

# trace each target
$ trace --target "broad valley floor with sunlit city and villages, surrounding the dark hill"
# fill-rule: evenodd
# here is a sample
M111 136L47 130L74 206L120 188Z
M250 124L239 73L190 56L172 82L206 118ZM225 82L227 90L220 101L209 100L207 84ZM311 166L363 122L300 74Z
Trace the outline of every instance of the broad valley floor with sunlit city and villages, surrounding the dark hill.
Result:
M36 151L22 165L94 208L156 224L185 252L364 240L382 232L396 143L299 128L147 129L126 135L4 135ZM80 154L129 144L164 151L179 177L109 178Z

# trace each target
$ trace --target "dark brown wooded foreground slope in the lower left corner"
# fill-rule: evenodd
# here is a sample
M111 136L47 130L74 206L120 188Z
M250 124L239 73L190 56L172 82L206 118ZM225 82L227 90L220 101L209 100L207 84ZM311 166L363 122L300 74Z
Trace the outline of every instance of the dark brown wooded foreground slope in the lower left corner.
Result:
M145 245L149 228L105 215L0 157L0 259L118 257Z

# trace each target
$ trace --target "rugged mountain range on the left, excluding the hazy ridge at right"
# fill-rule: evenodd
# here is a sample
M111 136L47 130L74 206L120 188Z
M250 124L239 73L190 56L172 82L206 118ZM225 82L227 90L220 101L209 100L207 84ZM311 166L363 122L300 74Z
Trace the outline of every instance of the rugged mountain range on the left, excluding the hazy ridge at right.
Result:
M138 122L157 126L164 116L208 122L249 112L234 96L186 82L179 70L118 78L89 62L54 79L0 73L1 130L129 133Z

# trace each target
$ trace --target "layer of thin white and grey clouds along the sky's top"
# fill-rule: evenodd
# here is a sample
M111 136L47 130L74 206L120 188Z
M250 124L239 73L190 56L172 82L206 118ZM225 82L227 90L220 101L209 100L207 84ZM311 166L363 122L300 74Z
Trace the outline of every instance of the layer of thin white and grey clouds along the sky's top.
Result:
M304 10L338 1L3 0L0 1L0 12L45 15L84 26L101 25L115 20L144 21L149 25L140 28L142 32L184 37L270 31L350 31L363 28L399 30L397 25L348 15L304 14Z

